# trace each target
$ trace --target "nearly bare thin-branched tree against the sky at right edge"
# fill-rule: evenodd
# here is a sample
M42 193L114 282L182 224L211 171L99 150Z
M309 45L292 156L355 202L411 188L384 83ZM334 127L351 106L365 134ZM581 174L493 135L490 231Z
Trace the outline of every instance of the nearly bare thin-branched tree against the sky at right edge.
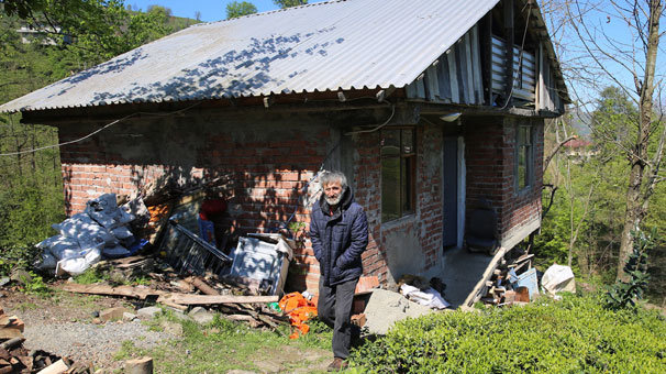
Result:
M659 92L664 81L657 65L661 51L659 31L664 18L662 0L551 0L564 10L560 32L575 35L576 42L564 50L570 56L568 74L584 91L598 90L599 82L612 81L635 105L631 127L623 123L591 124L597 136L612 142L629 161L624 183L624 215L619 249L617 277L625 279L623 272L633 248L631 232L636 230L648 213L657 185L666 179L662 169L666 127L662 121ZM602 19L604 22L600 22ZM625 32L615 33L622 28ZM575 65L575 66L574 66ZM629 79L626 77L630 77ZM656 77L656 78L655 78ZM569 77L567 77L569 78ZM602 86L601 86L602 87ZM655 114L656 113L656 114ZM628 119L626 117L623 120ZM613 130L608 132L607 130ZM624 132L624 133L623 133ZM621 136L626 134L626 136ZM620 136L620 138L619 138ZM654 147L651 144L656 144Z

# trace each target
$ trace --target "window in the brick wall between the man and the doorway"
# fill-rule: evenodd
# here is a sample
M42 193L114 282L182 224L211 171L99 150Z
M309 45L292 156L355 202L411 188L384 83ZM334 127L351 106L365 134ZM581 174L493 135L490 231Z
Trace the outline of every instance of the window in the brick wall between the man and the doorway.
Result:
M414 129L381 131L381 221L414 211L417 147Z

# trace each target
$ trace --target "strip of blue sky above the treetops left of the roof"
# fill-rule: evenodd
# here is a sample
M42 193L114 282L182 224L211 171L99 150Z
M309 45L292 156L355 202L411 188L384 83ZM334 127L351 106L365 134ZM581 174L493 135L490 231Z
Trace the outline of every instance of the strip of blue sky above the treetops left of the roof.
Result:
M310 0L310 2L320 2L321 0ZM132 6L132 9L146 10L149 6L157 4L171 9L174 15L195 18L195 12L201 12L201 20L213 22L226 18L226 4L232 0L125 0L125 6ZM238 1L241 2L241 1ZM257 7L259 12L276 10L273 0L251 0Z

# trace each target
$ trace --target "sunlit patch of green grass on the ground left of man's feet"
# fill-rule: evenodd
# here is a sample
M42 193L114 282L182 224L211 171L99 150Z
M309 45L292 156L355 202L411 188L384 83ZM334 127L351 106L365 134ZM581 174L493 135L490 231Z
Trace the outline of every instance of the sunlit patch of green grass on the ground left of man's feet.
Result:
M331 361L331 330L320 321L312 321L311 332L297 340L288 338L287 326L280 333L253 329L244 323L231 322L215 316L213 322L200 326L181 321L173 312L144 322L152 330L165 323L182 326L182 339L141 350L130 341L123 342L115 360L149 355L155 373L225 373L230 370L285 373L320 373Z

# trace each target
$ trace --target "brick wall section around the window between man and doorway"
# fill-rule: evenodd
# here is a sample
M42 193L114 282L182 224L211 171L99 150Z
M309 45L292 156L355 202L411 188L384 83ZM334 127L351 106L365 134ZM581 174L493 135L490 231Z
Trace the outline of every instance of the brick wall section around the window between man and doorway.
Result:
M370 244L364 253L366 275L377 275L385 283L397 279L390 252L408 253L418 270L425 273L437 263L442 249L442 131L433 125L417 128L417 207L415 212L403 219L381 223L381 160L380 132L359 134L355 138L357 160L354 164L356 200L364 206L370 229ZM417 245L403 248L387 240L390 234L417 237ZM390 276L389 276L390 275Z

